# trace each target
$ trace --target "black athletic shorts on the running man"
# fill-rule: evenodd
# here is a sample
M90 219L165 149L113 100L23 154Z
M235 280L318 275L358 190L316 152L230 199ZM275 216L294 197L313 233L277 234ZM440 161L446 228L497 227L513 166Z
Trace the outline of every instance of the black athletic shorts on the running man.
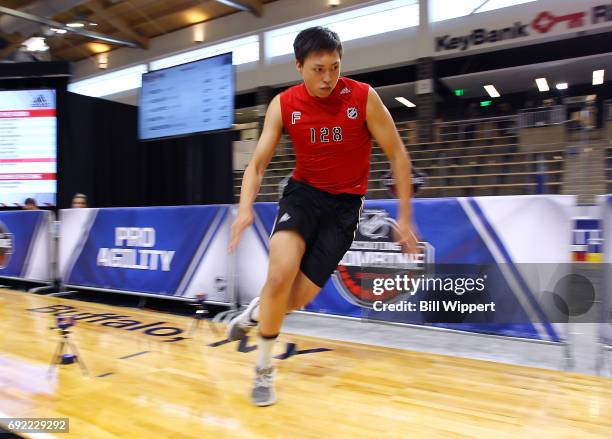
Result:
M304 238L306 252L300 270L323 287L351 247L362 205L361 195L334 195L290 179L279 201L272 234L294 230Z

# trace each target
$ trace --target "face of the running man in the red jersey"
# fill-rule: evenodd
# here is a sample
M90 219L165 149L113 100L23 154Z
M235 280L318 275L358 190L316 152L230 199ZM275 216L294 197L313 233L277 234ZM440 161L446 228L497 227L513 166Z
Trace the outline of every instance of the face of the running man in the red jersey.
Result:
M311 96L326 98L333 91L340 76L340 54L334 51L311 52L295 66L304 78L304 84Z

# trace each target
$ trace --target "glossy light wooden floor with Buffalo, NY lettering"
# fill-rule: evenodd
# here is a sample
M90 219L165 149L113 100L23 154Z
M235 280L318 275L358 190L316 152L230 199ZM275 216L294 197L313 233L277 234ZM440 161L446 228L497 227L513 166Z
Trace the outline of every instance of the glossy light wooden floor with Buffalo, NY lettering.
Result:
M0 417L69 418L70 434L54 437L612 438L610 379L293 335L281 336L278 354L287 342L331 350L275 360L279 402L253 407L256 352L209 346L223 337L207 324L164 342L170 329L153 336L92 317L72 336L89 376L76 364L48 375L59 337L50 314L30 309L57 305L167 322L158 328L192 324L0 290Z

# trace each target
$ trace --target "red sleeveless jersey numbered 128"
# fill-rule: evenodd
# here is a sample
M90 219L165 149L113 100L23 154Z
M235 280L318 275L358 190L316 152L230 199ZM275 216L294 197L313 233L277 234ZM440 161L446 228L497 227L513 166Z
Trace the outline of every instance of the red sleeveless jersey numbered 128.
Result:
M327 98L310 96L304 83L281 93L283 126L296 157L295 180L332 194L366 193L372 150L366 127L369 88L339 78Z

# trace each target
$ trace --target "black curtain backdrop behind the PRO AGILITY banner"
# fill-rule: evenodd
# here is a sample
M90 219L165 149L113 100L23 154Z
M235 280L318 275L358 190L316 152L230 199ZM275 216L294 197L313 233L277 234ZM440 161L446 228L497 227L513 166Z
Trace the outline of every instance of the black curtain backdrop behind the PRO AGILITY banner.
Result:
M138 140L138 108L67 93L60 110L58 206L83 192L95 207L231 203L225 131Z

